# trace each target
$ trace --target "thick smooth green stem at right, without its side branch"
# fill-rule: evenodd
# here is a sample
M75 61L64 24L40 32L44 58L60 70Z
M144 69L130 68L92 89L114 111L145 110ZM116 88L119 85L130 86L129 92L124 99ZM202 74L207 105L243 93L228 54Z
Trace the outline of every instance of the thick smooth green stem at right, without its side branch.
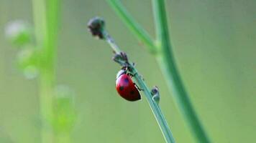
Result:
M173 54L170 46L170 37L168 33L168 21L166 18L165 1L152 0L153 11L155 14L155 26L157 41L159 41L160 56L157 60L163 71L165 79L168 82L170 91L173 91L173 97L178 104L183 116L188 123L191 133L196 137L198 142L210 142L204 131L196 112L193 109L185 87L180 79L178 69L175 65Z

